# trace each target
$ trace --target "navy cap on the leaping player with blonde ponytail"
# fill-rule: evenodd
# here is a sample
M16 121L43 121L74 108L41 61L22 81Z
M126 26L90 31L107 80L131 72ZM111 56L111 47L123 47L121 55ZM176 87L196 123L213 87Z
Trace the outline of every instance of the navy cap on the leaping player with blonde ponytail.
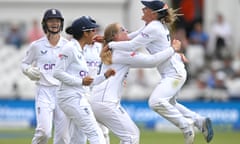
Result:
M154 11L168 8L167 5L161 0L153 0L153 1L142 0L141 2L143 5L145 5L146 7Z

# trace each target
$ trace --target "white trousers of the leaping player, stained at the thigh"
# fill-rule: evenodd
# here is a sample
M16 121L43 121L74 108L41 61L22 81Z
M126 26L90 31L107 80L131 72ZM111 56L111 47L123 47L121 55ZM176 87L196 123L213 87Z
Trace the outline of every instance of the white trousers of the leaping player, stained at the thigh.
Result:
M199 124L199 121L202 120L199 114L176 101L177 93L182 88L185 80L186 73L177 75L174 78L162 78L148 101L149 106L154 111L180 128L183 133L188 131L190 124ZM196 126L199 127L199 125Z

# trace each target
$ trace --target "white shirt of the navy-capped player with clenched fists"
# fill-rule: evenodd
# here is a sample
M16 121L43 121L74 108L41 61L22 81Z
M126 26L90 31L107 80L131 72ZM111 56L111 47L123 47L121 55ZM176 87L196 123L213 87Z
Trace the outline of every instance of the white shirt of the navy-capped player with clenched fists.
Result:
M85 95L87 89L82 85L82 80L88 75L89 70L83 50L78 41L72 39L63 47L54 71L54 77L61 81L60 92ZM98 75L92 85L99 84L103 80L105 80L104 75Z

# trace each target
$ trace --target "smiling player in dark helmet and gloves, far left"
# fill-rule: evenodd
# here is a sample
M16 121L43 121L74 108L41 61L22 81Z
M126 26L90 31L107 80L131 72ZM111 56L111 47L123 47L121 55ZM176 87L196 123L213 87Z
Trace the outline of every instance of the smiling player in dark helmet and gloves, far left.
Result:
M68 120L56 103L59 81L53 77L59 51L68 42L60 35L64 18L57 9L48 9L42 19L44 37L32 42L22 60L22 71L36 81L37 126L32 144L47 144L54 124L54 144L68 144Z

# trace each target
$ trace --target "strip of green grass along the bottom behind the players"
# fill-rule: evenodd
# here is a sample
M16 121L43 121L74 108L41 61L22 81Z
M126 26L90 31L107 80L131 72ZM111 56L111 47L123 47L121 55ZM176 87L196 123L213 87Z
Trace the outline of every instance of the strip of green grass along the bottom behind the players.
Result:
M0 144L30 144L33 129L27 130L0 130ZM119 144L119 139L110 134L111 144ZM239 144L240 132L215 132L210 144ZM194 144L205 144L201 133L196 134ZM49 141L52 144L52 139ZM140 144L184 144L181 133L164 133L150 130L141 130Z

